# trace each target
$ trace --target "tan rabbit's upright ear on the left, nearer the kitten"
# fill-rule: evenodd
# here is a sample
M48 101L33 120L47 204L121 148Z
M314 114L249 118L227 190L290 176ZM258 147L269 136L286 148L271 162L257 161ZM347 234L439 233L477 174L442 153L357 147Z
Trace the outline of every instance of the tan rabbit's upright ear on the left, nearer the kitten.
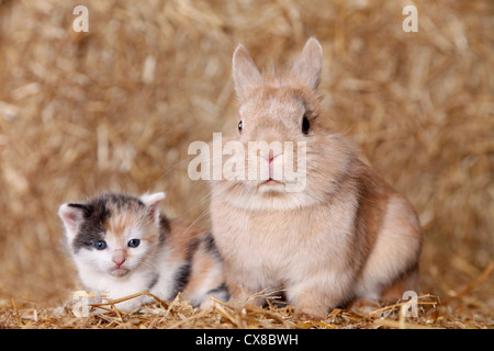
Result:
M244 45L238 45L233 56L232 77L240 100L247 98L250 89L260 84L262 77Z

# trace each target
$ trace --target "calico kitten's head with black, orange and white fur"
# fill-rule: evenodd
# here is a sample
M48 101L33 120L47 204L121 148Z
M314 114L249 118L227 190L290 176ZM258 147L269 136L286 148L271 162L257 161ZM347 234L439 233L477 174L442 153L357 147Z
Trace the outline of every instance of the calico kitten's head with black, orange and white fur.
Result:
M103 195L85 204L64 204L59 214L78 267L115 278L150 265L162 242L158 203L162 193L141 199Z

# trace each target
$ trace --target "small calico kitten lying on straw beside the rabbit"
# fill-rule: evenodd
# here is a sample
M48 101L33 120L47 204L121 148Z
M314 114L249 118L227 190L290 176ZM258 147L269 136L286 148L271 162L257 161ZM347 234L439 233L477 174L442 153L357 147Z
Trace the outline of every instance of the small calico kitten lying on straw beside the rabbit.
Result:
M111 299L143 291L161 299L182 292L203 308L210 296L226 301L223 262L213 237L159 212L165 193L134 197L108 193L58 210L69 251L87 290ZM119 303L135 310L153 298L142 295Z

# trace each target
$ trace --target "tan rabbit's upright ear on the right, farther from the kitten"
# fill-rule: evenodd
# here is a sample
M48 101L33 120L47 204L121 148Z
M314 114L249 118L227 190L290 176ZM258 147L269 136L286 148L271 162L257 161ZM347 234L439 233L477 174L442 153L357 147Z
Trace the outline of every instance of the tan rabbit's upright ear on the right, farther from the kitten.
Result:
M292 72L301 83L311 89L319 84L323 68L323 47L316 38L311 37L304 46L299 60L293 65Z

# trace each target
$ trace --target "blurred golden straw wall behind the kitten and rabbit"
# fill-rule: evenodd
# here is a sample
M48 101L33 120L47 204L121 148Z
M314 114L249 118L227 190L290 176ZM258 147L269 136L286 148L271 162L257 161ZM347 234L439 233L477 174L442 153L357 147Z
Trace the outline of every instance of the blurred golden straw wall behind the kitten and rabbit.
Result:
M187 148L236 127L233 50L283 65L308 36L327 124L419 214L423 293L475 280L494 253L494 4L415 1L419 31L405 33L406 4L0 0L0 297L56 304L76 287L63 202L164 190L169 216L209 226ZM493 291L483 281L459 313L493 325Z

